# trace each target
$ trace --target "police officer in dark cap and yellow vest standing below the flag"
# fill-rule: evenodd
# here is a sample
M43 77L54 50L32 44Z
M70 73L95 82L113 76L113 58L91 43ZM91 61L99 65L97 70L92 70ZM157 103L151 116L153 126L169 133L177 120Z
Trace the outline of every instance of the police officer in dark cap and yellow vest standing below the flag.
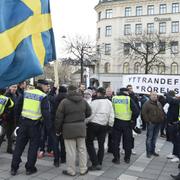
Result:
M37 88L24 92L20 126L16 139L16 147L11 163L11 175L16 175L21 162L21 155L29 141L28 157L25 164L26 175L37 172L35 163L40 142L40 124L50 126L50 105L46 92L49 86L46 80L38 80Z

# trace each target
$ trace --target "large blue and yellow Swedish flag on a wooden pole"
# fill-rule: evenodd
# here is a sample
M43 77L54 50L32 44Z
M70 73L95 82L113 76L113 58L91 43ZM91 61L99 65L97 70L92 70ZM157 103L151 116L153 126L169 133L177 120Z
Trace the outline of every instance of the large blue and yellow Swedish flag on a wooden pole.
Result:
M0 0L0 88L42 74L55 56L49 0Z

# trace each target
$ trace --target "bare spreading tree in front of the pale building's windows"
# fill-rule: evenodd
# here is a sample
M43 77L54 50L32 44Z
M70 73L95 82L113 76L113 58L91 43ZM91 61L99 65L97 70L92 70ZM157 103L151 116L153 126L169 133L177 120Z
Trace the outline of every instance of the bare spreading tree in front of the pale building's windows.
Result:
M169 36L144 32L141 35L125 36L118 41L125 60L137 61L144 69L144 73L148 74L154 67L164 64L165 51L170 49L173 40Z

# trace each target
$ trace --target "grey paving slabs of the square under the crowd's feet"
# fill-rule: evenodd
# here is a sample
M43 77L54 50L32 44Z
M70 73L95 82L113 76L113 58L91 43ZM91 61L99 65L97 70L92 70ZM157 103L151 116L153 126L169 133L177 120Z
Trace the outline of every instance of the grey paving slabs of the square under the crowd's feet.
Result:
M38 160L36 167L38 172L31 176L25 175L24 164L26 161L26 153L23 154L23 163L21 163L18 175L11 176L10 163L11 155L5 152L5 143L0 150L0 180L172 180L170 174L177 174L178 163L171 163L166 159L166 155L172 151L172 145L164 139L158 139L157 150L160 150L159 157L146 158L145 154L145 133L135 137L136 155L132 155L131 163L126 164L121 156L120 165L112 164L112 155L105 154L102 171L89 172L86 176L77 176L71 178L64 176L62 170L65 165L59 168L52 166L52 158L45 157ZM77 169L78 170L78 169Z

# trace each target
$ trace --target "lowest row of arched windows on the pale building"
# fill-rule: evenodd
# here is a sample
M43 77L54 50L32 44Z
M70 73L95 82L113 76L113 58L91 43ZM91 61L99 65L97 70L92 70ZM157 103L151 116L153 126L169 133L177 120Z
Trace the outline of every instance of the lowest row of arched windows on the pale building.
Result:
M107 62L104 64L104 73L109 73L109 72L110 72L110 63ZM130 73L130 64L128 62L125 62L123 64L123 73ZM134 64L134 73L135 74L142 73L141 64L139 62L136 62ZM165 74L165 73L166 73L166 66L162 62L158 66L158 74ZM178 64L175 62L171 64L171 74L178 74Z

